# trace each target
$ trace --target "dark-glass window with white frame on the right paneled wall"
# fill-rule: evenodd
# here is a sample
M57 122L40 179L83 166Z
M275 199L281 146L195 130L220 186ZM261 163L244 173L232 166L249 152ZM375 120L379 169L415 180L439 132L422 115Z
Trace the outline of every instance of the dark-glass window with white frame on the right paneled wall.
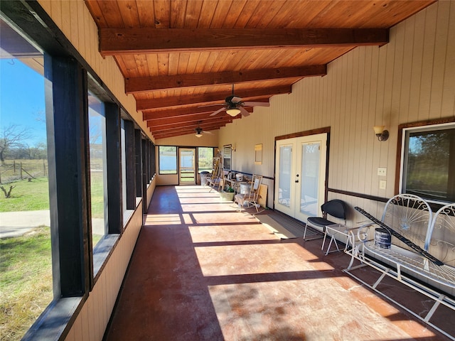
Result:
M455 201L455 124L404 130L402 193Z

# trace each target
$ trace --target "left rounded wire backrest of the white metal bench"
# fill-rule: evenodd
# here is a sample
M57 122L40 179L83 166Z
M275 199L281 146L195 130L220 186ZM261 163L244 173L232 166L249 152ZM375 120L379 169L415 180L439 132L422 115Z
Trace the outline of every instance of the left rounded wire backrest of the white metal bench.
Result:
M417 195L400 194L390 198L384 207L382 222L425 251L428 250L428 232L432 224L432 210L428 202ZM405 243L392 237L392 244L409 249Z

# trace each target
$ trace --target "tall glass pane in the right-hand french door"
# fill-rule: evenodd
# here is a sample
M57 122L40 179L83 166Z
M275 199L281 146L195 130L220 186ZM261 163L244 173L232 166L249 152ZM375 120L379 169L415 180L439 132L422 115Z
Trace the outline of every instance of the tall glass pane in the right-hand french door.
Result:
M302 144L300 212L318 215L320 143Z

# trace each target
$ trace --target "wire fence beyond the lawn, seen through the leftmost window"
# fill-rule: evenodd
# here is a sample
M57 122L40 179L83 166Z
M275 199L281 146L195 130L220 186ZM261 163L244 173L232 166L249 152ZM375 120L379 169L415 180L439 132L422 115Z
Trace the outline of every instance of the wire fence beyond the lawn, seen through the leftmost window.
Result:
M48 177L47 160L6 160L0 165L0 183Z

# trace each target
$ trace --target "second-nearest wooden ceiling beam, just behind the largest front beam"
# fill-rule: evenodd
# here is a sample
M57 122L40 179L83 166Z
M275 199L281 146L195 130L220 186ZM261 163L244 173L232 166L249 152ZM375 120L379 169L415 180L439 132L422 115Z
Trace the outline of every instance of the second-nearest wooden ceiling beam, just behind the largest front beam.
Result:
M125 80L125 92L127 92L127 94L132 94L136 92L169 90L181 87L228 85L280 78L323 76L326 74L326 65L309 65L302 67L277 67L262 70L198 73L193 75L135 77L127 78Z

